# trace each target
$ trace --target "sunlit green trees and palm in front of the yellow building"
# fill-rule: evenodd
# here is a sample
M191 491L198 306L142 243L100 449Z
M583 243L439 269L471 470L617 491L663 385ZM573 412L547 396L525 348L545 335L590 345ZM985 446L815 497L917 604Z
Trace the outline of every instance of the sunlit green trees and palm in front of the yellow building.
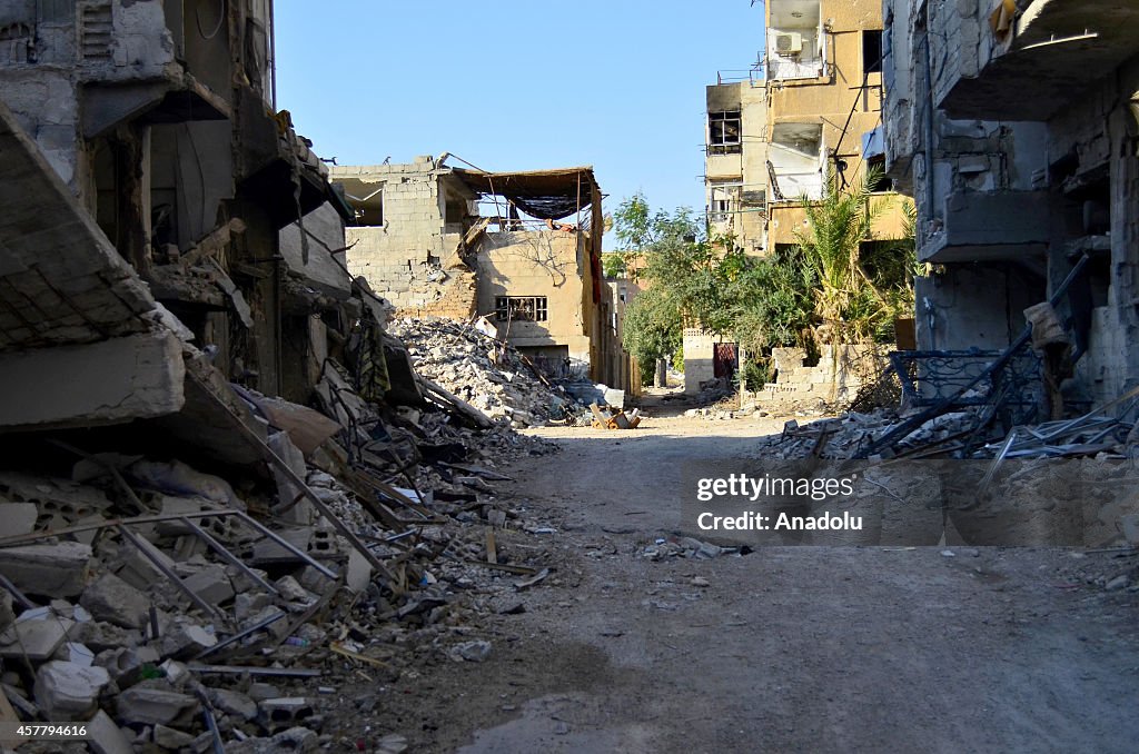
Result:
M622 202L614 229L648 285L626 310L625 349L641 364L679 359L682 327L699 323L753 354L741 378L754 390L772 347L890 339L894 318L913 311L915 214L907 203L908 238L874 241L880 202L869 187L878 178L868 171L842 190L831 175L822 199L804 199L798 245L760 259L730 236L707 238L687 208L654 213L640 194Z

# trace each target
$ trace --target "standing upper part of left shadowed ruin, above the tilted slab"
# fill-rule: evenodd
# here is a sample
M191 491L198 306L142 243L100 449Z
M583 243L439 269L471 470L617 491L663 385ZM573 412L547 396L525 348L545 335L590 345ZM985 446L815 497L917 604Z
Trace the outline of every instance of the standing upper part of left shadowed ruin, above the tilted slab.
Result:
M154 298L226 377L308 400L351 215L274 110L272 3L6 0L0 39L0 98Z

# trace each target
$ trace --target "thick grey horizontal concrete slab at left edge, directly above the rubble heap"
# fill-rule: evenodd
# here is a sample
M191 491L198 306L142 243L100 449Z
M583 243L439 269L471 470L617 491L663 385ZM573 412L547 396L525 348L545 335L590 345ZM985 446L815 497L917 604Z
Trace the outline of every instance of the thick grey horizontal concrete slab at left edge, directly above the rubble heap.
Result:
M75 364L83 364L82 390ZM181 343L172 333L0 353L0 374L2 429L116 424L173 413L185 402Z

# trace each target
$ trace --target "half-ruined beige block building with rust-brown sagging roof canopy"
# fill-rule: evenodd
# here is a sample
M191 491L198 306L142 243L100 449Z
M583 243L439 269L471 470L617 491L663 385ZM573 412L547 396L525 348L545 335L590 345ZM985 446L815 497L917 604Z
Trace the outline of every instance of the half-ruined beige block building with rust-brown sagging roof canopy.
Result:
M487 173L448 157L333 169L355 210L353 274L396 317L484 315L550 376L638 390L601 274L592 169Z

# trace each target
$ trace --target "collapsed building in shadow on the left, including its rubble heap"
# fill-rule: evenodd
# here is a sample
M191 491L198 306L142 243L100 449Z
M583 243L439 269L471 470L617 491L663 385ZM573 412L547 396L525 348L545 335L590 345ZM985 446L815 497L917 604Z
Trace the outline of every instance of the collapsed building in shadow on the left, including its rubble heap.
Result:
M313 679L485 658L454 584L549 573L487 466L548 448L384 331L352 212L274 112L271 2L2 1L0 40L0 721L402 751Z

